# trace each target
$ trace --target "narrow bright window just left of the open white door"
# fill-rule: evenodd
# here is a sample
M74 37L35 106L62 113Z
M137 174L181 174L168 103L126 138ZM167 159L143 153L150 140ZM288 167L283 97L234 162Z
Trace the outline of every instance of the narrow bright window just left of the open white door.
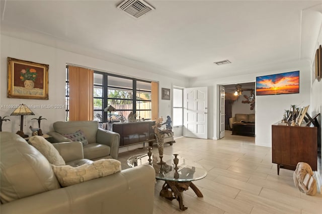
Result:
M183 89L173 89L173 126L183 126Z

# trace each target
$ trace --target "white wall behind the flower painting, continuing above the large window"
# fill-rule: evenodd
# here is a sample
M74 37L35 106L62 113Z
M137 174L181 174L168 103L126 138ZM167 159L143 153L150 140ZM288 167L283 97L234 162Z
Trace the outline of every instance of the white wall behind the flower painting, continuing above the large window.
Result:
M172 78L170 75L159 75L149 72L150 70L136 69L109 62L107 60L97 59L82 54L68 52L55 47L40 45L26 40L17 39L14 37L1 35L1 72L0 72L0 115L10 116L14 109L9 109L6 106L10 104L27 104L27 105L65 105L65 66L66 63L74 64L82 67L93 68L99 71L117 73L125 76L132 76L146 80L159 82L159 90L162 87L172 88L172 85L186 87L188 80L186 78ZM49 100L37 99L19 99L7 98L7 57L28 60L43 64L49 64ZM159 116L167 118L167 115L172 115L172 100L160 99L159 91ZM35 116L25 116L26 126L24 127L25 134L30 135L29 126L38 127L37 121L32 118L43 116L47 120L41 121L41 129L44 133L52 130L52 124L55 121L65 121L65 109L32 109ZM17 132L20 129L20 118L10 116L11 121L3 123L3 131Z

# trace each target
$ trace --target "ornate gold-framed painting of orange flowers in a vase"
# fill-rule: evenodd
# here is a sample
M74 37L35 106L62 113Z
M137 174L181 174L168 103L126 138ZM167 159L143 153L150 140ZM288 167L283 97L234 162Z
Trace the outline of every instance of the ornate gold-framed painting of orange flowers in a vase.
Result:
M49 99L49 65L8 57L9 98Z

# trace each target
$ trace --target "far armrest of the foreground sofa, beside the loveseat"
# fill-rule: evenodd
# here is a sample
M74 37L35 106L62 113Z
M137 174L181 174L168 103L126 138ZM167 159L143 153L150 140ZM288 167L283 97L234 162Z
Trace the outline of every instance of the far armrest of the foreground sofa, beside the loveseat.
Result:
M52 144L65 162L84 159L83 144L81 142L64 142Z

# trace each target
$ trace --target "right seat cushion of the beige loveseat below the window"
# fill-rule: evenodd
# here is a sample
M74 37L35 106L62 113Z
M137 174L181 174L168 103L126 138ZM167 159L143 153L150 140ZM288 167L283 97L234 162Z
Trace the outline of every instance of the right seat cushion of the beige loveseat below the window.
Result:
M104 144L91 143L83 147L84 158L96 159L100 157L109 156L111 147Z

